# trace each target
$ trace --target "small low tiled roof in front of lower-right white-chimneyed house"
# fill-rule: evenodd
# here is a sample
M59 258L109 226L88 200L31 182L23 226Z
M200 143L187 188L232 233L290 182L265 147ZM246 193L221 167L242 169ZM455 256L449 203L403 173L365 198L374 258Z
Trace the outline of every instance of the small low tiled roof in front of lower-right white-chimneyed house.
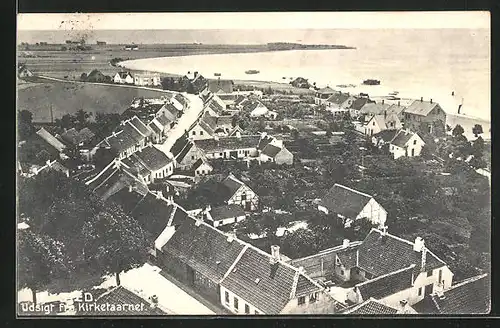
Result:
M382 299L399 291L408 289L412 285L414 264L401 271L392 272L386 276L364 281L356 285L364 300L371 297Z

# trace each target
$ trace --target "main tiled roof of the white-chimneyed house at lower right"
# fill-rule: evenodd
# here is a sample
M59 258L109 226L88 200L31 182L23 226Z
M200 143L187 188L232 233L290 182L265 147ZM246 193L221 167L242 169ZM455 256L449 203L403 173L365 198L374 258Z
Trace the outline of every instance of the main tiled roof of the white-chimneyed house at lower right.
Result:
M401 239L378 229L372 229L359 246L358 266L373 274L381 276L415 264L414 273L420 272L421 252L413 250L413 242ZM423 271L437 269L446 264L427 250Z

